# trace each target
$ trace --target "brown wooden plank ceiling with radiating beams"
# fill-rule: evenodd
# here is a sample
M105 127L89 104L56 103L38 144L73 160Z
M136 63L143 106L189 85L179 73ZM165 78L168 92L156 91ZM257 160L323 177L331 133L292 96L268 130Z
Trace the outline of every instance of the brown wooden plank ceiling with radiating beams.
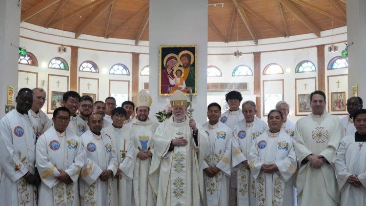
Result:
M346 0L208 0L207 6L208 41L320 37L332 24L346 25ZM22 0L20 21L138 45L149 39L149 0Z

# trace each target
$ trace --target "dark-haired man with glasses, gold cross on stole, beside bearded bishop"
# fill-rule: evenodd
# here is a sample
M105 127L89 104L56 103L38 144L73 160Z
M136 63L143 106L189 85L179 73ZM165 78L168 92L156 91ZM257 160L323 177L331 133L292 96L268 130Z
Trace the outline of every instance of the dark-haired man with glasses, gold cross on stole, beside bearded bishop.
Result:
M134 142L130 141L131 131L124 126L126 110L117 107L112 110L111 118L113 123L103 128L103 133L111 138L117 153L117 173L112 179L112 206L132 206L132 178L134 169ZM121 165L121 163L124 163Z

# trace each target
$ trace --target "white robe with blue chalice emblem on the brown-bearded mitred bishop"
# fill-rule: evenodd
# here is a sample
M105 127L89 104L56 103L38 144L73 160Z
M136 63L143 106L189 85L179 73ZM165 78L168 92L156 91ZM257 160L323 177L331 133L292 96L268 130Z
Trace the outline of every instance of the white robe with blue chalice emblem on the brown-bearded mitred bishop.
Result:
M156 197L152 192L152 187L148 183L148 175L151 159L140 160L137 154L140 150L150 150L154 153L152 137L158 127L158 123L147 119L145 122L134 118L131 124L132 137L135 142L134 155L135 167L133 172L133 197L136 206L154 206Z

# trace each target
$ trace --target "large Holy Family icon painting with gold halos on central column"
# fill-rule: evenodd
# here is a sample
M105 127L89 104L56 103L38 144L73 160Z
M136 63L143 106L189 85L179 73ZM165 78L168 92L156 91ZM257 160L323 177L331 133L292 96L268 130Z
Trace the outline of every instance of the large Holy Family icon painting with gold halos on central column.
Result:
M197 95L197 45L159 47L159 95L176 90Z

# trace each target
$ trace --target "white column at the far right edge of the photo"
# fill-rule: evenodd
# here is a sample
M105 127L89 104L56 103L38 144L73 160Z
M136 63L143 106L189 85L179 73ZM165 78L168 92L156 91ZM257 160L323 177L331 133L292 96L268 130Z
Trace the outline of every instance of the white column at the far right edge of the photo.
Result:
M347 0L348 91L358 85L358 96L366 105L366 1ZM353 42L353 45L350 45ZM364 106L365 108L365 106Z

